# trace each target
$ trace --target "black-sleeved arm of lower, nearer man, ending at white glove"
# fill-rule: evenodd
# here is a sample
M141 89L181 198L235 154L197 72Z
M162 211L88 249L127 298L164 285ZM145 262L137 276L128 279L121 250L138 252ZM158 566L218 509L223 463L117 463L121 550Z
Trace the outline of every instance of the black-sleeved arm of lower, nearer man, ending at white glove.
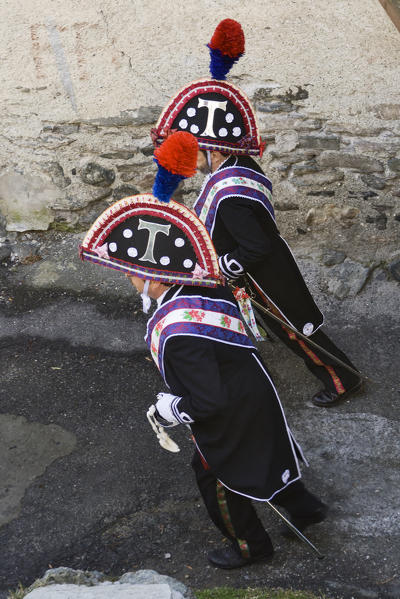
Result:
M179 335L165 346L165 370L171 391L176 394L171 411L180 423L207 420L222 412L228 403L220 377L215 341Z

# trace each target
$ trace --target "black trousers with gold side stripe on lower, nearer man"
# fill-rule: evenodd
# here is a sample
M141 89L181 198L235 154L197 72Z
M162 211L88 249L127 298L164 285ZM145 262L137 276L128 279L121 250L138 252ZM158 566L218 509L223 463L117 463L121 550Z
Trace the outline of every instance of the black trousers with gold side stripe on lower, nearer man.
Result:
M237 546L243 557L272 554L271 539L251 499L224 487L203 463L197 450L192 467L208 514L223 536ZM281 491L272 503L282 506L290 517L309 516L323 505L301 481Z

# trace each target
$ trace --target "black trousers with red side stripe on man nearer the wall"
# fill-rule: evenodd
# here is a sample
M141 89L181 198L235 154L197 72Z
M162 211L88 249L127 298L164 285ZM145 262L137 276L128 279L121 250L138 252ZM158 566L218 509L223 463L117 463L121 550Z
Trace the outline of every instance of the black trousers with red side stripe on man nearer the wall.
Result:
M269 301L260 289L252 286L256 297L261 300L266 307L270 307L271 311L279 318L284 318L282 315L273 307L269 305ZM348 391L360 381L360 377L352 374L349 370L340 366L333 358L327 356L324 352L312 347L307 341L300 339L296 333L290 329L282 326L279 322L276 322L272 318L268 318L261 311L257 312L257 318L261 317L261 320L269 330L271 330L283 343L297 354L302 360L304 360L307 368L324 384L324 388L328 391L333 391L341 395L345 391ZM351 366L354 370L357 368L352 364L349 358L344 352L342 352L334 343L329 339L325 333L318 329L310 335L310 339L317 343L322 348L329 351L331 354L342 360L348 366Z

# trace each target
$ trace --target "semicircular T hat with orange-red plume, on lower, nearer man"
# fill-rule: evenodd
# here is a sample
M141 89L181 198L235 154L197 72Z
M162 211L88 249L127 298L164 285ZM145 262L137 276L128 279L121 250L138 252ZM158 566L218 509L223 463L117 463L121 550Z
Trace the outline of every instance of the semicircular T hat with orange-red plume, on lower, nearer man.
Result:
M222 284L218 257L203 223L171 200L179 182L194 175L197 152L193 135L171 135L155 151L153 193L126 197L107 208L80 246L82 260L168 285Z

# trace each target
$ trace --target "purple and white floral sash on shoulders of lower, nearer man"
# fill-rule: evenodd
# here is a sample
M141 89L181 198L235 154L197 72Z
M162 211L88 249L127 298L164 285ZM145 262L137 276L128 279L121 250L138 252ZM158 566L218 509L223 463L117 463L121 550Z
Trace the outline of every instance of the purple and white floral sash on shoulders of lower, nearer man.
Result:
M225 300L180 296L163 304L147 324L145 341L164 380L164 348L170 336L188 335L254 349L237 307Z

